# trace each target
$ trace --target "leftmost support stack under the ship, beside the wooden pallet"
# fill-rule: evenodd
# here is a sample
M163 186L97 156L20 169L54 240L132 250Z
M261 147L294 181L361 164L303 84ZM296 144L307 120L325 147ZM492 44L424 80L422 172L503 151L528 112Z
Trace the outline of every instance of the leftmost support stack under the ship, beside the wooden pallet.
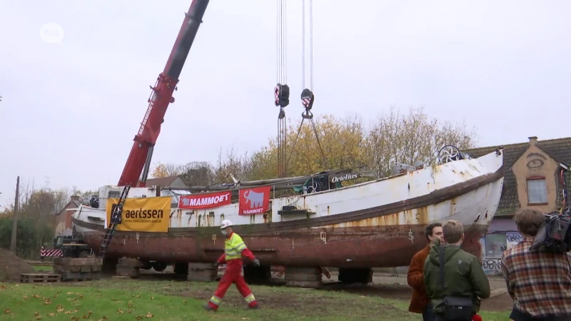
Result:
M101 258L55 258L54 272L62 281L97 280L101 278Z

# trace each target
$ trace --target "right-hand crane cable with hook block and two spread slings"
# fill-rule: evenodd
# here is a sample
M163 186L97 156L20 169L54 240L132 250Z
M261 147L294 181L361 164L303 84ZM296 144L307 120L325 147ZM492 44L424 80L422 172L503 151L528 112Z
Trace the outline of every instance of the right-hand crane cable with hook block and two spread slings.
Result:
M315 133L315 138L317 139L317 144L319 146L319 151L321 152L321 157L323 161L325 161L325 167L329 170L329 164L327 158L325 157L325 153L323 153L323 148L321 148L321 142L319 141L319 134L317 128L315 127L315 121L313 121L313 113L311 113L311 108L313 107L313 102L315 101L315 95L313 94L313 0L309 0L309 88L305 87L305 0L302 1L302 11L301 11L301 30L302 30L302 53L301 53L301 86L303 91L301 91L301 103L303 104L303 108L305 111L301 114L301 123L299 124L298 133L295 136L295 140L293 141L293 148L295 148L295 143L298 141L299 133L301 131L301 126L303 126L303 121L305 119L309 119L311 122L311 126L313 127L313 133ZM286 164L289 163L290 158L293 154L293 148L288 156L288 161Z

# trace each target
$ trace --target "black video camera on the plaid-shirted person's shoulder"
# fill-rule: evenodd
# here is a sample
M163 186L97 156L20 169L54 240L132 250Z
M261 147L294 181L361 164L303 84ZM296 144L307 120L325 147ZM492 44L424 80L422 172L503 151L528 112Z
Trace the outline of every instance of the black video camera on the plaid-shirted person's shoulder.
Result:
M535 236L530 251L567 253L571 250L571 208L545 214L545 223Z

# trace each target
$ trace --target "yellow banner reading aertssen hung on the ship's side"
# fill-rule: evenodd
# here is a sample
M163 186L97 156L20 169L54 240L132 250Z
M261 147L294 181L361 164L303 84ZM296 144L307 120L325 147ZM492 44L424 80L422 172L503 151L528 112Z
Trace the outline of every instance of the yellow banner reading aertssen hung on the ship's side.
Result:
M168 232L171 217L171 196L159 198L127 198L117 230L131 232ZM111 213L119 203L118 198L107 200L106 228L111 223Z

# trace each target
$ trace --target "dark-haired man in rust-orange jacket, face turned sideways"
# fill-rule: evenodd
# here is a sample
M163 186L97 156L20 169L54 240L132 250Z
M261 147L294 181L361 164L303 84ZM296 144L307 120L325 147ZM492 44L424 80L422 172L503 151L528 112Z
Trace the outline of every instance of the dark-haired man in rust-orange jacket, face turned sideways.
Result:
M433 306L430 303L428 295L426 295L424 287L424 263L430 252L430 246L434 242L444 242L442 223L430 223L425 228L425 237L427 244L425 248L418 251L418 253L413 256L410 260L410 266L408 267L408 277L407 282L410 287L413 287L413 297L410 299L410 305L408 310L414 313L422 313L423 321L433 321L435 315L433 312Z

